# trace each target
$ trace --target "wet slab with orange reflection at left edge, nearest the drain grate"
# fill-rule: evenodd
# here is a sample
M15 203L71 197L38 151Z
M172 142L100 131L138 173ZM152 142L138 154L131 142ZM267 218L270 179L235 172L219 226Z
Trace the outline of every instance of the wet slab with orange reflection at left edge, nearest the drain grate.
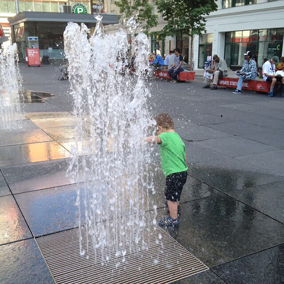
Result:
M0 245L31 237L13 196L0 197Z

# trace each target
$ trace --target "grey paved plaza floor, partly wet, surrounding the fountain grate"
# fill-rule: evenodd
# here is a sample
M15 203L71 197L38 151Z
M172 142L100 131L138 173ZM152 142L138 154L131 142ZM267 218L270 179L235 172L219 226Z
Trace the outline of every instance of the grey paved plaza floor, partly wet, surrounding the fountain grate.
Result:
M0 284L52 284L34 238L77 226L76 184L65 175L76 118L58 66L20 70L24 89L54 97L24 102L23 132L0 130ZM149 82L150 112L174 118L189 166L181 225L168 233L209 267L174 284L283 284L284 98L201 82Z

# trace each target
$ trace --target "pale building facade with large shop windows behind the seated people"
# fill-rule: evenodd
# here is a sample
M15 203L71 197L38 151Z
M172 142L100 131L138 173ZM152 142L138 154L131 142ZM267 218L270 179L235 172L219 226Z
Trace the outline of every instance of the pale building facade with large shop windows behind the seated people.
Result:
M156 13L155 0L149 0ZM119 14L114 0L105 0L107 13ZM161 55L179 47L188 62L189 37L176 32L174 37L160 38L158 32L165 22L159 16L158 25L149 38L151 52ZM122 25L109 25L108 33L116 32ZM258 56L258 64L277 55L284 56L284 0L218 0L218 10L206 16L206 33L195 36L193 61L195 69L203 68L204 62L218 54L228 67L238 69L244 62L248 50Z

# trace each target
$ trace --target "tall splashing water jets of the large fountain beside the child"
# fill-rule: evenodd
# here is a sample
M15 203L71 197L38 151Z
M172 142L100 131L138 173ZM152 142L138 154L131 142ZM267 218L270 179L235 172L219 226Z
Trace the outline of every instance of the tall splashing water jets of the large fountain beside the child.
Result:
M135 75L127 67L129 43L120 29L105 35L101 16L88 39L85 24L68 23L65 53L74 99L77 154L69 166L77 190L81 255L95 250L102 263L116 259L117 267L134 252L147 249L148 194L153 187L147 172L150 148L144 139L153 127L147 111L150 96L144 80L148 68L148 39L133 39ZM88 155L79 157L82 147Z

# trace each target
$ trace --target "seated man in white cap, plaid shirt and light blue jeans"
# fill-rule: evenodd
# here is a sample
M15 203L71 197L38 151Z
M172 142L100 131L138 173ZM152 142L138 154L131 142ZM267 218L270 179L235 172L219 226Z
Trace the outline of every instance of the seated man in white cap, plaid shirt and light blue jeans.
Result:
M241 70L236 71L236 75L239 76L238 80L238 87L233 94L241 94L242 93L242 86L244 80L252 80L257 77L257 65L256 62L252 59L253 53L248 51L244 53L245 55L245 62Z

